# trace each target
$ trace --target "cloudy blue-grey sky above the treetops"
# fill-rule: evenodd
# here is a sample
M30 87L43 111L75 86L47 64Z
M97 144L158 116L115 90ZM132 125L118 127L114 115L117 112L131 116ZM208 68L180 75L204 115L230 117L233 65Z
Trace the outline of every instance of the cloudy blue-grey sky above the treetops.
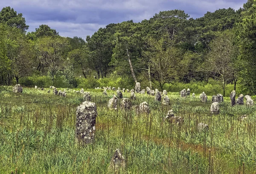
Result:
M190 17L219 8L239 9L247 0L0 0L25 17L28 31L46 24L61 36L86 38L110 23L140 22L160 11L184 10Z

